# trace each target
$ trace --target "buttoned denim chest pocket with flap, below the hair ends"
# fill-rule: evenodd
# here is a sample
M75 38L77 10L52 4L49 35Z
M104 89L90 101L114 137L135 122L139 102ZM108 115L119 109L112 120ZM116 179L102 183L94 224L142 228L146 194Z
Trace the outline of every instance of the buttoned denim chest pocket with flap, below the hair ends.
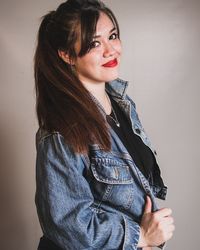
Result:
M95 198L119 210L129 209L134 199L134 179L130 167L107 158L93 158L91 171L95 179Z

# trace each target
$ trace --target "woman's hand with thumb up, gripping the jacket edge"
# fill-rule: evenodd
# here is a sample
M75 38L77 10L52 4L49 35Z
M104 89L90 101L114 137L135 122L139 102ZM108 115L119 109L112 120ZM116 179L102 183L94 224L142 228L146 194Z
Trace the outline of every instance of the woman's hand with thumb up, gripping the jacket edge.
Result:
M156 212L151 212L152 203L149 196L141 221L141 232L138 247L159 246L169 240L175 229L174 220L171 217L170 208L162 208Z

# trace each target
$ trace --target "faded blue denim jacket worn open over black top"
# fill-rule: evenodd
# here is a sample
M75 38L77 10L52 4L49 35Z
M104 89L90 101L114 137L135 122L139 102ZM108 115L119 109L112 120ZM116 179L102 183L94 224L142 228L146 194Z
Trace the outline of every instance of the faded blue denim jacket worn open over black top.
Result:
M127 82L106 89L131 119L133 131L153 153ZM166 187L154 186L135 165L112 128L111 151L90 146L77 154L58 132L36 135L36 206L44 235L61 249L136 250L146 195L165 198Z

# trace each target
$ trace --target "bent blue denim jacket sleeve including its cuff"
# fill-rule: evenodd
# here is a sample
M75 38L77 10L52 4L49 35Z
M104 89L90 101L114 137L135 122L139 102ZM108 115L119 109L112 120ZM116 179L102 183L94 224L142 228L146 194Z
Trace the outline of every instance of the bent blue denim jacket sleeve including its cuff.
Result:
M36 196L44 235L61 249L136 250L139 225L121 213L97 210L84 161L58 134L37 145Z

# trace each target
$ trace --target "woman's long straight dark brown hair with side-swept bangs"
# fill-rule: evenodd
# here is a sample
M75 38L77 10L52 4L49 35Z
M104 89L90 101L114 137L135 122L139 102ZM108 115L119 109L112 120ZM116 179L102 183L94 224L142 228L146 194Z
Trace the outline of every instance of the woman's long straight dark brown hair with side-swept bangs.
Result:
M84 153L98 143L104 150L111 147L105 118L80 82L70 64L58 51L70 58L84 56L104 12L119 33L112 11L97 0L68 0L42 19L35 52L36 110L39 126L49 132L60 132L75 152ZM75 43L81 38L77 55Z

